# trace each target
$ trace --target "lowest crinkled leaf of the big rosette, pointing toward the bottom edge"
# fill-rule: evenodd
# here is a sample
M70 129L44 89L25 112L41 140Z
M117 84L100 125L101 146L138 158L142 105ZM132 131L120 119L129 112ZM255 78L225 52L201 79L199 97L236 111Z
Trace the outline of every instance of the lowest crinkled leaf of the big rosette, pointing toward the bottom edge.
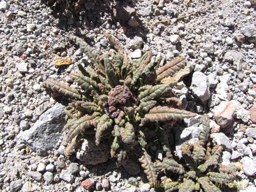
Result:
M157 181L156 170L151 161L150 155L148 155L145 150L143 150L143 155L141 158L139 158L139 161L142 163L141 166L144 168L144 173L147 176L147 180L150 183L155 183Z

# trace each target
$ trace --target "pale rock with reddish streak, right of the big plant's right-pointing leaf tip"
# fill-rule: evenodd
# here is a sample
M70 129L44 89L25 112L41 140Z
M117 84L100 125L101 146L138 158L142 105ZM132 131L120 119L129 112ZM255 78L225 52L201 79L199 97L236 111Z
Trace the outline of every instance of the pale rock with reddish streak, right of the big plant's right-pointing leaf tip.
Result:
M225 132L225 128L231 124L235 112L236 106L232 105L227 101L221 101L221 103L216 106L216 108L214 109L214 118L218 125L221 126L222 131Z

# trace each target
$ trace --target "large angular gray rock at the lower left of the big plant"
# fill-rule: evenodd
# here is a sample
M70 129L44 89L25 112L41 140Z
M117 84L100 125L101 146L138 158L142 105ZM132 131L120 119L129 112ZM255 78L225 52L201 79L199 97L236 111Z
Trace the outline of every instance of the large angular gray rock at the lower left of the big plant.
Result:
M64 109L64 105L56 103L29 130L20 132L17 137L24 140L38 155L46 155L48 150L56 147L57 138L66 123Z

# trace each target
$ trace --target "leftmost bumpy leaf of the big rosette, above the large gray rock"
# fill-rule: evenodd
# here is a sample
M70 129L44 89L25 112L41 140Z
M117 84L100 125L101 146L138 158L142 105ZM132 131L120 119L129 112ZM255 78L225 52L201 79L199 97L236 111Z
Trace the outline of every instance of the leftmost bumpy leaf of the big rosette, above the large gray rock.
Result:
M64 95L81 99L80 93L64 83L58 82L55 79L47 79L42 83L42 86L50 88L52 91L62 93Z

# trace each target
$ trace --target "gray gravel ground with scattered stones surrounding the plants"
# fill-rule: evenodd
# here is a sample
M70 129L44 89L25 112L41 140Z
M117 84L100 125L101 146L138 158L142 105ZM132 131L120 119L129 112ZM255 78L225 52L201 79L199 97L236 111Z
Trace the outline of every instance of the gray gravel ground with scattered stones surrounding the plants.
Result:
M112 160L94 166L63 156L67 143L58 131L64 106L55 104L41 82L49 77L70 82L76 63L87 63L69 42L70 34L98 51L111 51L103 32L117 37L132 58L150 49L153 59L186 57L194 71L175 93L187 110L210 116L211 137L224 147L223 163L243 168L237 173L241 191L256 191L256 1L91 0L84 5L74 13L52 10L44 1L0 2L0 191L155 190L143 184L142 171L131 176L113 168ZM72 64L54 65L64 57ZM198 126L199 120L184 124Z

